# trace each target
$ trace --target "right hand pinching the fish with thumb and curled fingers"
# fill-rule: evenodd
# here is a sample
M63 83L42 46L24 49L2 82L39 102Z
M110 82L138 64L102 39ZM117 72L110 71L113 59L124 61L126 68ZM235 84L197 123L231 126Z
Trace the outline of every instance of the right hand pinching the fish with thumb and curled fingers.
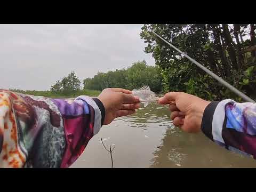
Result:
M196 133L201 131L204 109L210 101L183 92L169 92L158 100L159 104L169 104L171 119L175 126L183 131Z

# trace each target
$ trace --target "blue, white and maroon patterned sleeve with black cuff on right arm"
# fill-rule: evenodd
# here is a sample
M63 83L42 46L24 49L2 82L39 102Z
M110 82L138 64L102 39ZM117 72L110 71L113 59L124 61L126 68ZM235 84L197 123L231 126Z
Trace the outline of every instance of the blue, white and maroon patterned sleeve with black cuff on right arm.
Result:
M213 101L205 108L201 129L220 146L256 158L256 103Z

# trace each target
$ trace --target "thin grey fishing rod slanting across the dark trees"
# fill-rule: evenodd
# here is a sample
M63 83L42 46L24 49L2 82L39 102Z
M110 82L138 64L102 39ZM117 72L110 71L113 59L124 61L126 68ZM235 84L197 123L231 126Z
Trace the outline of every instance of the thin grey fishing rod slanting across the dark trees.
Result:
M210 71L209 69L205 68L203 65L201 65L200 63L198 63L196 60L190 58L187 54L183 53L182 51L180 51L177 47L173 46L171 43L167 42L163 37L159 36L158 34L155 33L155 29L153 29L153 31L151 31L152 33L154 33L157 37L161 38L165 43L167 43L168 45L170 45L173 49L175 49L176 51L178 51L179 53L181 53L182 55L184 55L187 59L189 59L191 62L195 63L197 67L203 69L207 74L211 75L213 78L215 78L218 82L220 82L222 85L225 85L226 87L228 87L228 89L230 89L231 91L233 91L234 93L236 93L239 97L243 98L245 101L248 102L252 102L255 103L255 101L251 98L249 98L247 95L245 95L244 93L242 93L241 91L237 90L234 86L230 85L228 82L224 81L222 78L220 78L218 75L215 75L212 71Z

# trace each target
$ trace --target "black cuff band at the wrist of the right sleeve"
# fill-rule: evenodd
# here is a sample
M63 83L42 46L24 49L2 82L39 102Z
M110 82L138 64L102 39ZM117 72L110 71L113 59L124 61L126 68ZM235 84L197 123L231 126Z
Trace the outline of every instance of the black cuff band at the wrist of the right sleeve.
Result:
M201 130L206 135L206 137L210 138L213 141L212 137L212 119L214 111L219 104L219 101L212 101L204 110Z

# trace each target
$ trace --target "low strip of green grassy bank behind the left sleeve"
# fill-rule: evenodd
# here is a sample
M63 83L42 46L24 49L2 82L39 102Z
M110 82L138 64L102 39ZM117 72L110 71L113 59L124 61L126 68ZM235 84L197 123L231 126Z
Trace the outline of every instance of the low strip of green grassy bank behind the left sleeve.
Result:
M75 98L80 95L87 95L90 97L97 97L100 94L100 91L97 90L81 90L81 91L76 91L71 94L57 94L51 91L35 91L35 90L11 90L13 92L18 92L18 93L23 93L23 94L30 94L30 95L35 95L35 96L44 96L48 98Z

